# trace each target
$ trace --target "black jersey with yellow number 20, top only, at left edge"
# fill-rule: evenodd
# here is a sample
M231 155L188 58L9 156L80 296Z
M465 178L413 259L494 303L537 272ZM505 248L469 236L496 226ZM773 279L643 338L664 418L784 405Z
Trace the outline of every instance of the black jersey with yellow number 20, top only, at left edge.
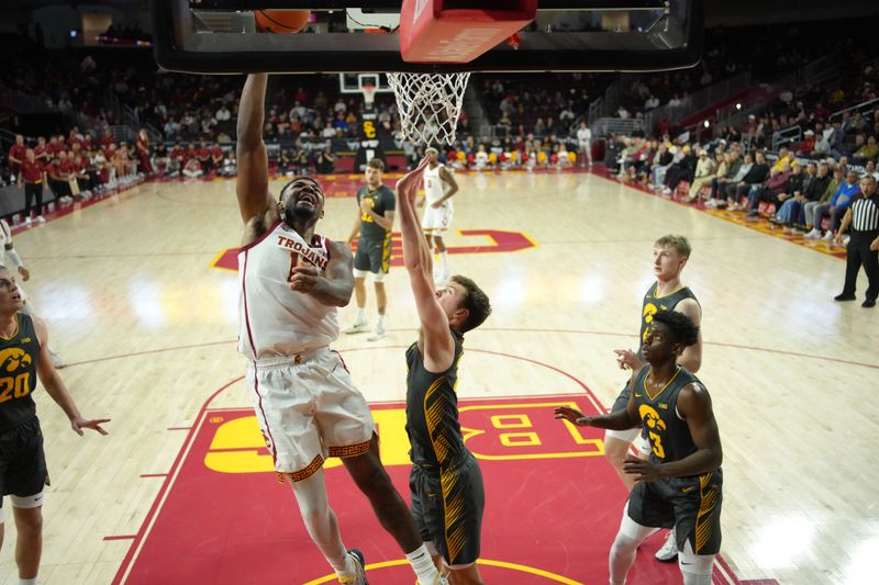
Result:
M0 432L12 430L36 416L31 393L36 387L40 341L33 319L15 314L12 337L0 337Z

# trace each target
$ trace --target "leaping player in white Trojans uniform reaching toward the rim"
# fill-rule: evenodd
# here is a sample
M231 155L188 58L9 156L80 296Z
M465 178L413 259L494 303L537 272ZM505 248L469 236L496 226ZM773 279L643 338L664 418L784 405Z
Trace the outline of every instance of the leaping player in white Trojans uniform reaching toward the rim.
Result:
M342 583L366 584L363 553L346 551L330 508L323 473L341 457L382 527L407 553L423 585L445 583L412 516L379 459L369 407L342 357L336 307L354 290L347 245L314 233L324 193L297 177L278 200L268 191L263 142L266 74L247 77L237 122L238 207L244 238L238 255L241 336L257 420L279 479L290 482L302 520ZM291 575L301 581L305 575Z

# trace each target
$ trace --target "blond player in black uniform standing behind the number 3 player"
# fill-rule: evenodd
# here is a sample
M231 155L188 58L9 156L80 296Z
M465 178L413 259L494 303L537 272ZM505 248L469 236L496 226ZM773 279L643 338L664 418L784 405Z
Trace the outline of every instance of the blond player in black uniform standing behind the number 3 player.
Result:
M653 315L657 311L677 311L683 313L700 326L702 322L702 308L696 300L692 291L680 282L680 273L687 261L690 259L690 243L683 236L667 235L656 240L653 247L653 270L656 274L656 282L647 290L644 295L644 303L641 312L641 342L647 336L647 329L653 320ZM614 350L616 361L623 370L637 371L643 367L643 356L641 349L634 352L630 349ZM702 335L696 344L687 347L678 361L692 373L699 371L702 364ZM616 402L613 403L611 412L615 413L625 408L628 403L628 384L623 387ZM632 477L623 471L623 459L628 452L628 447L638 437L638 429L626 429L622 431L608 430L604 435L604 455L610 460L623 483L632 491L635 485ZM675 542L675 532L669 532L666 543L656 552L659 561L671 562L678 554L678 547Z

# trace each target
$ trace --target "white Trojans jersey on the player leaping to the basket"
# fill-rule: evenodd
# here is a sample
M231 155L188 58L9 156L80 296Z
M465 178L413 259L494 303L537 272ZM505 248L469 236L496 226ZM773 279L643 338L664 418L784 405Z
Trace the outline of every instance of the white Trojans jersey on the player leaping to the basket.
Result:
M292 269L313 265L326 269L326 238L307 244L280 221L238 252L238 351L254 360L294 356L324 347L338 337L336 307L308 293L290 290Z

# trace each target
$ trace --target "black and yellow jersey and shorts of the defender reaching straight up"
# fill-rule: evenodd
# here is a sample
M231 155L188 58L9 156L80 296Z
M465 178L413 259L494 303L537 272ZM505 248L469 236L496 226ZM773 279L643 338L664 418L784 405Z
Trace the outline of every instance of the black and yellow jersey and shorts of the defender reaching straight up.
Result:
M486 494L479 464L460 434L455 386L464 336L452 335L455 359L445 372L424 369L418 344L405 352L409 487L422 540L433 542L449 566L466 566L479 558Z

